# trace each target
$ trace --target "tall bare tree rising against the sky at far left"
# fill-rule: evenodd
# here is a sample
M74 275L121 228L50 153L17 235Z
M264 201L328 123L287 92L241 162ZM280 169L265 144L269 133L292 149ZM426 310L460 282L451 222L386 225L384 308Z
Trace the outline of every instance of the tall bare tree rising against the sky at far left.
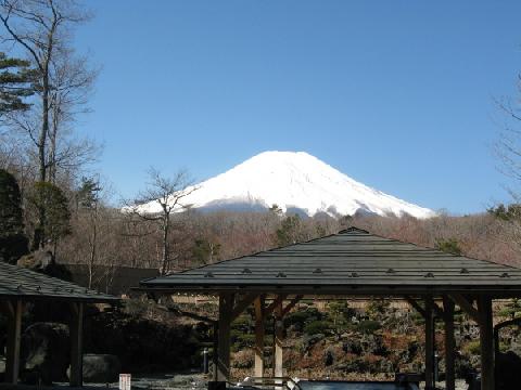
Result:
M25 51L36 69L33 109L12 119L36 146L39 181L47 181L49 167L56 164L60 123L71 120L75 112L72 106L84 104L82 98L96 77L85 67L85 58L74 58L71 49L73 27L89 17L74 0L0 1L3 42Z

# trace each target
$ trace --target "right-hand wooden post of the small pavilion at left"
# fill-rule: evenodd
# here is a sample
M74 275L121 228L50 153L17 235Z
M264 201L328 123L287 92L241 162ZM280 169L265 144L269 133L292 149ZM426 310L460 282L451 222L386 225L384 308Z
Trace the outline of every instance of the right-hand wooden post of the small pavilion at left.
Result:
M71 303L71 377L73 387L84 386L84 303Z

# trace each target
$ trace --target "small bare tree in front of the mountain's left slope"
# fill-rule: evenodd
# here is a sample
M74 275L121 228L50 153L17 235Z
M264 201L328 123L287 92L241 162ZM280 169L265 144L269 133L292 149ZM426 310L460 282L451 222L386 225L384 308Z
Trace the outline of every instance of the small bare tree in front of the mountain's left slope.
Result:
M179 170L171 178L164 177L157 169L149 170L150 181L126 211L144 221L154 222L162 235L162 257L160 272L166 274L170 269L171 217L174 212L186 211L191 205L185 198L198 190L186 170ZM128 205L128 203L127 203Z

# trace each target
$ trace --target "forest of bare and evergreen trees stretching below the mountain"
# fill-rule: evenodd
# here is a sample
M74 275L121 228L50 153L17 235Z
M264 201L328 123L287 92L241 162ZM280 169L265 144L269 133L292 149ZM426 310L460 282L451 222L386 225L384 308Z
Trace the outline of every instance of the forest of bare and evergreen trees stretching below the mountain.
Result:
M199 212L182 204L192 182L185 171L150 172L150 185L127 202L112 200L111 184L92 172L101 148L76 129L89 113L98 66L79 54L74 31L91 18L66 0L0 1L0 257L16 262L48 250L58 263L87 265L89 286L116 266L165 274L308 240L356 225L386 237L453 253L521 266L521 115L498 102L509 126L497 156L511 178L511 205L482 213L418 220L410 217L301 218L274 205L264 212ZM88 28L88 27L84 27ZM196 191L196 190L195 190ZM174 193L174 196L170 195ZM160 199L162 212L131 205ZM130 205L130 206L129 206ZM177 212L174 207L182 207ZM103 266L103 271L101 270ZM109 270L109 271L107 271Z

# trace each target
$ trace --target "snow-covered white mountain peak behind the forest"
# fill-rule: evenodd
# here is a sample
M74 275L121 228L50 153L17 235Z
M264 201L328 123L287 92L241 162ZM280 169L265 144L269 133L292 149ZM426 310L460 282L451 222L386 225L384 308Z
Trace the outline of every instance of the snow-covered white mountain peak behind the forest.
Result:
M185 204L199 209L264 209L332 217L369 212L429 218L435 213L364 185L305 152L264 152L198 184ZM157 212L152 202L140 212Z

